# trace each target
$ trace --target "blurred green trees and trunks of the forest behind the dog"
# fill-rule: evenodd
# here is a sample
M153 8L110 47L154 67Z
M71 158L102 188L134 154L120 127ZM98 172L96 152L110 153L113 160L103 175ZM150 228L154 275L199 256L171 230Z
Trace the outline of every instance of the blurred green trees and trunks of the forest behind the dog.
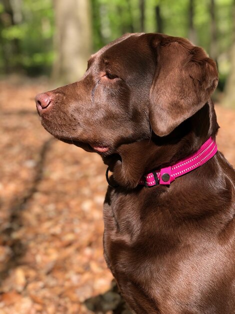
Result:
M216 60L218 90L235 106L235 0L0 0L0 75L71 82L88 56L121 36L186 37Z

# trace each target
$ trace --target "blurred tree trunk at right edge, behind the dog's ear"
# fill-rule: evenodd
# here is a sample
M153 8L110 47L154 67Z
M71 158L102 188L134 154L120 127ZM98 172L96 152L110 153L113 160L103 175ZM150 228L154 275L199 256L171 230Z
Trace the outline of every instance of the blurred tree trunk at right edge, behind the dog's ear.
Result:
M232 47L230 51L230 74L227 78L227 82L225 85L225 97L223 104L226 107L235 108L235 0L233 0L233 8L232 8L232 16L233 16L233 40Z

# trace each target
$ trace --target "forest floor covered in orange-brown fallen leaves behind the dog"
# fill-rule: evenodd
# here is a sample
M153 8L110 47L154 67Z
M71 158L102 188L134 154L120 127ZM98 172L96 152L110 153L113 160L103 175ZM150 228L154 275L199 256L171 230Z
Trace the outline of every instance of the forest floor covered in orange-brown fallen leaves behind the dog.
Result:
M34 96L43 81L0 81L0 314L128 313L103 259L106 167L52 138ZM215 106L235 166L235 111Z

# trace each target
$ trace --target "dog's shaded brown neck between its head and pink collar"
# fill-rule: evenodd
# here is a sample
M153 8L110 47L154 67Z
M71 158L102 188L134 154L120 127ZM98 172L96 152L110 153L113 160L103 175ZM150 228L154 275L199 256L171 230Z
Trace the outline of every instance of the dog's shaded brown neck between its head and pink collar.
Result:
M144 174L172 165L194 153L209 136L215 137L217 128L211 101L169 135L159 137L152 134L150 140L120 145L118 154L103 161L113 172L115 183L133 189Z

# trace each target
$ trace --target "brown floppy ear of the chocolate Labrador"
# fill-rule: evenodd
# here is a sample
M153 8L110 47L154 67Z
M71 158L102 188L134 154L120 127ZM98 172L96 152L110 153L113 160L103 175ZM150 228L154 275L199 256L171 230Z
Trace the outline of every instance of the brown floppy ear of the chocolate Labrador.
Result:
M185 39L156 34L151 47L156 68L149 120L153 132L164 136L207 102L217 86L218 73L204 50Z

